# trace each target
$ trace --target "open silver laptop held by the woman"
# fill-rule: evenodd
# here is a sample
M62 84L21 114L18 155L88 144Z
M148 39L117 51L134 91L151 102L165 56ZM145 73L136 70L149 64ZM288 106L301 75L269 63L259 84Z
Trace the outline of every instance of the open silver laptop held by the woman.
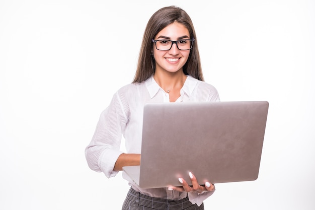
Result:
M258 178L269 103L146 104L140 166L123 167L141 188Z

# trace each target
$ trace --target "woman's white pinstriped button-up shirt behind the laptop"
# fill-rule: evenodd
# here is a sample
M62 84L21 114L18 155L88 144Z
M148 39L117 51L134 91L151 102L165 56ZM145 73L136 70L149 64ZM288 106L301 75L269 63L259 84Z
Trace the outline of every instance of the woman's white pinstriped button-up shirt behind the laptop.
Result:
M218 92L212 85L187 76L180 97L175 103L219 100ZM101 113L92 141L85 151L88 165L92 170L103 172L108 178L118 173L113 171L113 168L116 160L123 153L120 151L122 135L125 138L126 153L140 154L143 106L146 103L156 102L170 103L170 97L153 77L142 83L128 84L114 94L109 106ZM124 172L123 177L135 190L148 196L172 200L187 196L186 192L170 191L167 188L141 189L134 185ZM193 204L200 205L212 193L188 193L188 195Z

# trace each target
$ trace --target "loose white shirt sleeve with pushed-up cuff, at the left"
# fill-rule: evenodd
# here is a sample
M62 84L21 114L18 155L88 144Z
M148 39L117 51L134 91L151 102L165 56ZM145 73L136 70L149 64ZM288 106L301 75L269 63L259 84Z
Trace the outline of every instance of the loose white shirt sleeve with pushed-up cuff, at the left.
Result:
M96 172L103 172L106 177L115 176L113 171L120 151L122 132L127 124L127 117L118 93L110 105L101 113L91 143L85 149L89 167Z

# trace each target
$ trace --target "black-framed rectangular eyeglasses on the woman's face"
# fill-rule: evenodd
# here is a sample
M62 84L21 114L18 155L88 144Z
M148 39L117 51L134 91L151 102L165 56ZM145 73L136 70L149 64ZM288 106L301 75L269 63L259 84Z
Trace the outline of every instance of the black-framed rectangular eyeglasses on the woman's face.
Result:
M172 41L168 39L154 40L152 42L155 43L155 48L157 50L170 50L173 44L176 44L179 50L190 50L193 47L193 42L195 39L180 39L177 41Z

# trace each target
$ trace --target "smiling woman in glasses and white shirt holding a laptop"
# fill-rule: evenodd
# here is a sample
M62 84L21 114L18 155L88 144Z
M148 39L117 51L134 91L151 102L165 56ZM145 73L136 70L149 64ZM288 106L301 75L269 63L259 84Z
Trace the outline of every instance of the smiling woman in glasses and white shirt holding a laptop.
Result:
M119 89L102 112L86 148L89 167L115 176L123 166L140 165L143 106L154 102L219 101L216 89L203 82L197 39L188 14L175 6L156 11L149 19L131 84ZM119 151L121 135L126 151ZM129 181L122 209L204 209L203 200L215 188L193 186L180 178L182 187L141 189Z

